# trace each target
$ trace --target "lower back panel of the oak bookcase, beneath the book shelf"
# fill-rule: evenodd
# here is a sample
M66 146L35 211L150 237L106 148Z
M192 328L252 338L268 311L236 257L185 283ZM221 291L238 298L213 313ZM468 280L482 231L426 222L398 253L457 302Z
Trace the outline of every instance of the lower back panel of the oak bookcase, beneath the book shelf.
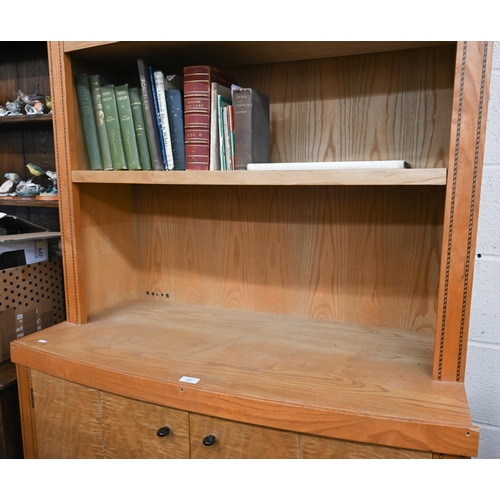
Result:
M133 200L139 296L433 331L442 187L136 186Z

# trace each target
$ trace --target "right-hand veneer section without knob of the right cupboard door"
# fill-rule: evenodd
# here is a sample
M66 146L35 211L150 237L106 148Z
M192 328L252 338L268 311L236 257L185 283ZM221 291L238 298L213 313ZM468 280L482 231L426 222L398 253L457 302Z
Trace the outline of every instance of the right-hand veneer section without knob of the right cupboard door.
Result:
M299 458L432 458L425 451L390 448L317 436L299 435Z

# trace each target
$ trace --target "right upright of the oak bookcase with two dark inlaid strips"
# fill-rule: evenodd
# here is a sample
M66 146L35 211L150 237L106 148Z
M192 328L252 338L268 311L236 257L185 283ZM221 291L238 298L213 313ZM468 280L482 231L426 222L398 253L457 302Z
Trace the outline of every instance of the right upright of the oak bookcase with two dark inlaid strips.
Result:
M457 44L433 377L462 382L488 104L491 42Z

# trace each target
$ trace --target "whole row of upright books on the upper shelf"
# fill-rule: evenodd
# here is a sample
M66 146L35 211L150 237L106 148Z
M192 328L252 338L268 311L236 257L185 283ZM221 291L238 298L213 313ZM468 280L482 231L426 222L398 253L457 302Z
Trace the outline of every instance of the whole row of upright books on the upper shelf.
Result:
M92 170L241 170L269 161L269 98L211 66L137 61L139 86L75 75Z

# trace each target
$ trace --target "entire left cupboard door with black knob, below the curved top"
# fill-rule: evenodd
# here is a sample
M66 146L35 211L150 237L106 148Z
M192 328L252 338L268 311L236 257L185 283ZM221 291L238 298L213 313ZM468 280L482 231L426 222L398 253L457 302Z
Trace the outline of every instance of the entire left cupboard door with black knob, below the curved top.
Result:
M39 458L189 458L186 412L35 370L31 379Z

